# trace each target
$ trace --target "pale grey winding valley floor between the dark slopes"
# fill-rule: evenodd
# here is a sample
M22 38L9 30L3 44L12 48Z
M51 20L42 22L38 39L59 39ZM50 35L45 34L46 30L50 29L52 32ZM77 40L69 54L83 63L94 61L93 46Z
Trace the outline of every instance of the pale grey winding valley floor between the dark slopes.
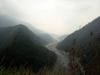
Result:
M49 45L47 45L46 47L53 51L56 55L57 55L57 62L56 62L56 65L55 65L55 68L60 68L60 69L63 69L65 72L68 71L68 64L69 64L69 53L66 53L65 51L63 50L59 50L56 48L57 46L57 43L54 42L54 43L50 43Z

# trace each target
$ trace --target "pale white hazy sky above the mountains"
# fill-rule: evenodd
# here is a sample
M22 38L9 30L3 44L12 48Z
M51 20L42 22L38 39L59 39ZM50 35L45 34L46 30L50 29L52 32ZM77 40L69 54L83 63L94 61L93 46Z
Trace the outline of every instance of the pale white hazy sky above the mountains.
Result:
M100 0L0 0L0 14L63 35L100 16Z

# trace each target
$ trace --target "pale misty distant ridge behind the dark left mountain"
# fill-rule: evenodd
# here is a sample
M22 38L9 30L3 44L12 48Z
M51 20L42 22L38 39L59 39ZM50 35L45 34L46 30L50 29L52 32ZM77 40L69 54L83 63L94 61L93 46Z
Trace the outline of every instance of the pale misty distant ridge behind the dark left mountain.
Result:
M0 15L0 27L9 27L9 26L16 26L18 24L23 24L27 26L34 34L36 34L39 38L43 40L44 45L47 45L53 41L55 41L48 33L41 31L35 27L32 27L31 24L20 21L16 18L12 18L7 15Z

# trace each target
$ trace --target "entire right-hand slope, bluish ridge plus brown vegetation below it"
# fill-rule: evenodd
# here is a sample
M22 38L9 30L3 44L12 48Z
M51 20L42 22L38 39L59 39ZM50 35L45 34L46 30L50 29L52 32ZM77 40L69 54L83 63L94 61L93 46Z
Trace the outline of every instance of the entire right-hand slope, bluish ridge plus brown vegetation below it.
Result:
M100 17L59 43L69 53L70 75L100 75Z

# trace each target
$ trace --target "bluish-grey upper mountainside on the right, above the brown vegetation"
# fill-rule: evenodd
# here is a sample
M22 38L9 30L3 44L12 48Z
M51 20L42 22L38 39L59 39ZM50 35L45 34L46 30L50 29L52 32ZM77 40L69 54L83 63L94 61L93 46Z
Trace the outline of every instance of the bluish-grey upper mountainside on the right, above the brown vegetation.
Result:
M67 36L63 41L61 41L57 48L59 49L68 49L70 46L74 45L75 43L84 46L91 35L98 35L100 33L100 17L93 20L91 23L84 26L82 29L75 31L71 35Z

